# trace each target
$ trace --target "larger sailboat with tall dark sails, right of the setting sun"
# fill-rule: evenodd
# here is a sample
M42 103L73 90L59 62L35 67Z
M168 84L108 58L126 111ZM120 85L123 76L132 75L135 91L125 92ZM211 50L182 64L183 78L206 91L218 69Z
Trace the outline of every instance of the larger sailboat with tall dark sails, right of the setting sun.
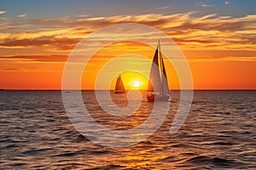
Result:
M164 59L160 52L160 42L154 53L154 59L151 65L147 99L154 101L169 101L171 97L169 85L166 77L166 68Z

